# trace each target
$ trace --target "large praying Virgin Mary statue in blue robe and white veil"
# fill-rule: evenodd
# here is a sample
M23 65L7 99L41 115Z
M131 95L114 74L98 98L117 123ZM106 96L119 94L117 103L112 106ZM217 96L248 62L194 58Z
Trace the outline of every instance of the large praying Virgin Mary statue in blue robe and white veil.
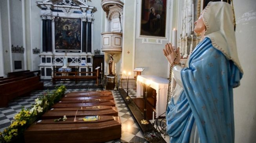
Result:
M163 49L177 83L167 105L166 132L171 143L234 143L233 88L243 70L231 5L209 2L195 25L202 41L184 68L178 64L180 48Z

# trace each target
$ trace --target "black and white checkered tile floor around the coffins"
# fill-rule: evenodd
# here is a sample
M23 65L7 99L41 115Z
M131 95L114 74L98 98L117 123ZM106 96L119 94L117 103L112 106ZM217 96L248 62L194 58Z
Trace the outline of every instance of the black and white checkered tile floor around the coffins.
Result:
M60 83L62 84L62 82ZM72 83L65 83L72 84ZM64 84L64 85L65 85ZM45 86L52 86L51 83L45 82ZM58 85L58 82L57 84ZM69 91L87 91L87 88L80 89L67 89ZM89 89L89 90L97 90L97 89ZM17 114L22 106L30 107L31 104L34 103L34 99L38 97L38 95L42 95L44 92L48 90L37 90L31 92L30 96L27 97L18 97L9 102L9 107L0 108L0 131L2 132L6 127L11 124L11 120L15 114ZM51 90L49 90L51 91ZM129 90L129 95L136 97L136 91ZM116 107L118 108L118 116L120 116L120 120L122 123L122 137L121 139L117 139L114 141L108 141L106 143L116 143L116 142L138 142L138 143L147 143L147 141L143 137L143 132L138 127L138 124L133 119L133 116L129 112L129 109L126 107L123 99L118 91L113 91L114 100L116 102Z

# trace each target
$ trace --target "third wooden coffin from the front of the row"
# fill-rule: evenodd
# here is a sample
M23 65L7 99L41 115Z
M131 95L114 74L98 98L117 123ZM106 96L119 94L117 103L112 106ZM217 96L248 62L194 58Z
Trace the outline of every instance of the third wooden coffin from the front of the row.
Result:
M52 108L63 108L63 107L88 107L88 106L100 106L100 105L109 105L109 106L115 106L114 100L107 100L105 102L98 101L98 102L91 102L91 103L62 103L58 102L52 106Z

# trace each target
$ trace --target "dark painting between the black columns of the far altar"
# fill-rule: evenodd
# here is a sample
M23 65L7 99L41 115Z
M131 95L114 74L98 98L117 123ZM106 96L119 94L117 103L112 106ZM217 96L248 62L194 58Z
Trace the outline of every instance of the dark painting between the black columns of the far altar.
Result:
M55 22L55 50L81 50L81 19L63 18L63 22Z

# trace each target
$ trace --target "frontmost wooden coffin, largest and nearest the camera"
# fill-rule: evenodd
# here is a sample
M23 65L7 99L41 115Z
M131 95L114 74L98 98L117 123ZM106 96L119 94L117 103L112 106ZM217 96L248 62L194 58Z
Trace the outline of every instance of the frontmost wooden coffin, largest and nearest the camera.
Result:
M25 130L24 138L26 143L101 143L121 138L121 121L113 116L91 122L42 120Z

